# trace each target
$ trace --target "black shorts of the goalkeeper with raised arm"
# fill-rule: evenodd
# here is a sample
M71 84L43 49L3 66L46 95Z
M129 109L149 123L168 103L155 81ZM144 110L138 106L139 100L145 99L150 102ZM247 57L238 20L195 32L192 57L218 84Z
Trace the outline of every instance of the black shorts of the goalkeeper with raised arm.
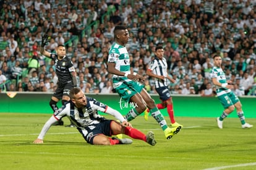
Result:
M72 82L66 84L58 83L57 89L53 93L53 96L61 100L62 96L69 96L69 92L73 87L74 85Z

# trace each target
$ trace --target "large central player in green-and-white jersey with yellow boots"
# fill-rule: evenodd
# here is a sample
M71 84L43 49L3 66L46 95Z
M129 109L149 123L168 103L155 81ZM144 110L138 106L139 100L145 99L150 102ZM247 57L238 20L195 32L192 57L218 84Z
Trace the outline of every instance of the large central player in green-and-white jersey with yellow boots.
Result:
M150 109L153 116L167 139L171 139L177 134L181 126L170 128L166 124L163 114L156 107L155 101L148 95L143 88L143 76L139 75L130 68L130 58L125 47L129 40L129 32L124 25L117 25L114 28L115 42L109 49L108 72L113 74L113 88L121 96L121 99L134 104L134 108L124 117L127 121L132 121L139 116L146 108Z

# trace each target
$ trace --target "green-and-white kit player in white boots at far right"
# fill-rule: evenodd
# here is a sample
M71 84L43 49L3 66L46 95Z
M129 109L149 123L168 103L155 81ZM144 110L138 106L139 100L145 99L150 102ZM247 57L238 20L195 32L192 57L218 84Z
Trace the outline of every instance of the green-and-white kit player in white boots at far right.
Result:
M251 128L253 125L250 125L245 122L244 112L242 111L242 104L239 101L239 98L231 91L233 82L231 80L226 80L225 73L221 69L221 56L215 55L213 57L214 67L211 69L211 80L216 86L216 93L218 100L220 100L223 105L224 111L220 117L217 117L216 121L218 127L223 129L223 119L225 119L230 113L236 108L237 116L239 117L242 128Z

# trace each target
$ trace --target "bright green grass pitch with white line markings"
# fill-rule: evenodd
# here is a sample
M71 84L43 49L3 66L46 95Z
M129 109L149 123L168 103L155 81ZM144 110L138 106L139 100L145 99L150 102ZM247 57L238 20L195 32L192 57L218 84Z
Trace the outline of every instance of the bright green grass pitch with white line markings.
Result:
M152 130L155 147L140 140L90 145L77 129L64 126L51 127L45 143L33 144L50 116L0 113L1 169L256 169L256 119L246 119L255 127L242 129L238 118L228 117L218 129L215 117L176 117L184 127L166 140L153 117L137 117L133 127Z

